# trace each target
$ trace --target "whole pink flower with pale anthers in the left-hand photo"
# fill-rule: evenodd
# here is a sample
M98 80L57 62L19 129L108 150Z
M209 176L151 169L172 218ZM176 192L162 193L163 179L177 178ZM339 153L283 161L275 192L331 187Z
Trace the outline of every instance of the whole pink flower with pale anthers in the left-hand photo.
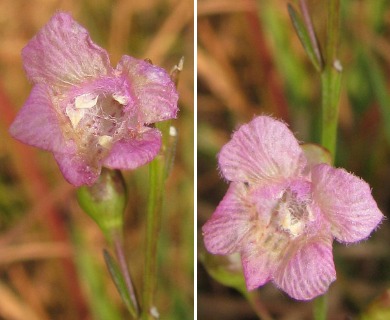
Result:
M67 13L57 13L22 51L34 87L11 125L16 139L51 151L73 185L92 185L102 166L135 169L159 152L151 124L176 117L169 74L107 52Z

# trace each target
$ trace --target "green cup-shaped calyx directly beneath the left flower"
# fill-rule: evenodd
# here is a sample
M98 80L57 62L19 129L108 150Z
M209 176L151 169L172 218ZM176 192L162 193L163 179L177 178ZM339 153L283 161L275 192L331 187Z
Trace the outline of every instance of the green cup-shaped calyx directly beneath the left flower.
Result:
M121 234L123 213L127 203L126 185L119 170L102 169L92 186L77 190L80 207L99 225L111 241L114 234Z

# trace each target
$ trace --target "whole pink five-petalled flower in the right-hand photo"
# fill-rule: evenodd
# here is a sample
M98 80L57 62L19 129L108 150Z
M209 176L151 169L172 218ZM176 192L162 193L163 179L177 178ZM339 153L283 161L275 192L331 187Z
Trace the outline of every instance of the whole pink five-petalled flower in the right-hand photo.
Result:
M383 218L370 187L328 164L310 164L287 126L260 116L219 154L230 187L203 226L213 254L239 252L248 290L268 281L298 300L336 279L332 242L367 238Z

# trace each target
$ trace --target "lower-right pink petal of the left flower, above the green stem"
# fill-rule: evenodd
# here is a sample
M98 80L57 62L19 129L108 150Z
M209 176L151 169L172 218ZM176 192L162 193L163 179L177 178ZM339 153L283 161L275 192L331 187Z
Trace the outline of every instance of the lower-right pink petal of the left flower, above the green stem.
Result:
M140 138L116 142L103 163L111 169L135 169L152 161L160 147L161 133L148 128L140 133Z

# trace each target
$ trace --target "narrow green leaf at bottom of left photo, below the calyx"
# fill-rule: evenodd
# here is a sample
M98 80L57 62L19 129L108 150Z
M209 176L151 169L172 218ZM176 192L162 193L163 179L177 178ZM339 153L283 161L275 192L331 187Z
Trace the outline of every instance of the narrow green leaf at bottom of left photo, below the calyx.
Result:
M115 283L115 286L121 296L125 306L129 310L130 314L133 318L137 317L136 307L130 299L129 292L127 291L126 283L124 277L119 269L118 264L111 256L111 254L107 250L103 250L104 260L106 261L106 265L108 271L110 272L111 278Z

